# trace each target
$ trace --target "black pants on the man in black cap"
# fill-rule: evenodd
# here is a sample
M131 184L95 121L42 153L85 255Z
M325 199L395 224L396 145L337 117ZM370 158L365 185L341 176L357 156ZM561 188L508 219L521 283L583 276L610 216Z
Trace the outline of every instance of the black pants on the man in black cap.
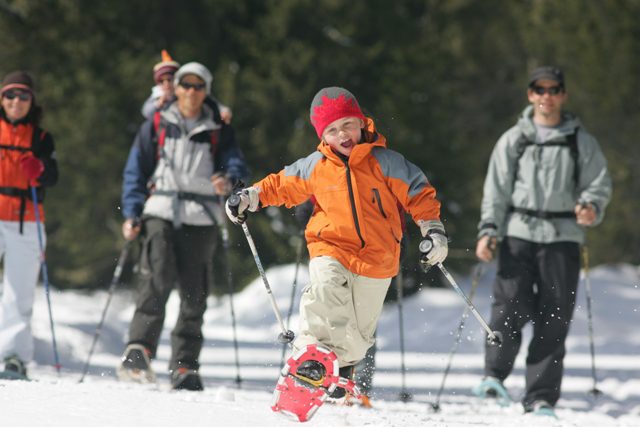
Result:
M503 334L500 347L486 346L485 375L504 380L513 369L522 328L533 325L526 359L526 407L535 400L555 405L580 274L575 242L533 243L513 237L500 246L493 286L491 329Z

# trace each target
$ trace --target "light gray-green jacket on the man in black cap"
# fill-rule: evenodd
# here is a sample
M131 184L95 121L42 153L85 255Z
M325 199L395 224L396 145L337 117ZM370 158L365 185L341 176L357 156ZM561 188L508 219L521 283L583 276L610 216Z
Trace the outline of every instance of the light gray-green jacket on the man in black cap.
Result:
M567 145L567 137L577 132L577 159ZM478 237L517 237L537 242L571 241L583 243L584 228L572 218L544 218L559 212L568 215L577 203L595 206L602 222L611 197L607 162L596 139L571 113L563 113L561 125L546 141L536 140L533 108L528 106L518 123L496 143L484 182ZM577 176L574 170L578 167ZM577 182L576 182L577 178ZM514 208L520 212L514 212ZM522 209L543 212L522 213Z

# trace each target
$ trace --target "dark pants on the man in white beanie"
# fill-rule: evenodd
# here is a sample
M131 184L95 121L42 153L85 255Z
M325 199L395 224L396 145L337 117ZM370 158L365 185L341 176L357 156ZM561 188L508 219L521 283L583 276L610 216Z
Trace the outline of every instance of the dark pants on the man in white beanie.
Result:
M147 218L136 311L129 326L129 343L139 343L155 357L165 318L165 305L174 287L180 295L180 313L171 333L169 369L199 369L202 323L207 309L209 271L216 229Z

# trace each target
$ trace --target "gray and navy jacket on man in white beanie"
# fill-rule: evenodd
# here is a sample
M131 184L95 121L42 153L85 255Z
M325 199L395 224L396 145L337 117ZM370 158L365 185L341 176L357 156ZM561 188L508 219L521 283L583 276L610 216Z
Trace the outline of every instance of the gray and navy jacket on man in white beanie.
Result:
M248 175L233 129L214 121L206 105L190 132L176 103L160 115L159 133L164 137L159 138L153 122L146 121L131 147L123 177L124 217L143 214L172 221L176 227L224 219L211 176L219 172L235 182Z

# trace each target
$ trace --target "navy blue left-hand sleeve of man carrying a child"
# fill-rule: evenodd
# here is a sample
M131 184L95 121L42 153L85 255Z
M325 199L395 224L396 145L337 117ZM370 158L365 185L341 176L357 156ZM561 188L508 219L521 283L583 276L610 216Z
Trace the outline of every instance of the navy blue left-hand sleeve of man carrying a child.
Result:
M122 181L122 216L138 218L149 195L147 183L155 170L157 158L153 123L140 126L124 168Z

